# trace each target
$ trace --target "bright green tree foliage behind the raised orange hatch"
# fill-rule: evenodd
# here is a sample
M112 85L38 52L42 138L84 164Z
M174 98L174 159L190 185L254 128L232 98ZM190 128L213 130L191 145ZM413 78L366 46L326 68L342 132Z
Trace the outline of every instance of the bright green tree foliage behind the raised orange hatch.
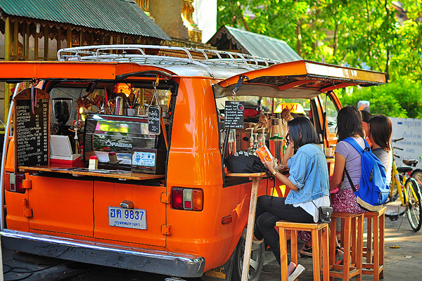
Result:
M405 13L392 3L218 0L217 24L281 39L307 60L386 72L388 85L357 89L343 102L370 100L371 112L421 118L422 1L401 1Z

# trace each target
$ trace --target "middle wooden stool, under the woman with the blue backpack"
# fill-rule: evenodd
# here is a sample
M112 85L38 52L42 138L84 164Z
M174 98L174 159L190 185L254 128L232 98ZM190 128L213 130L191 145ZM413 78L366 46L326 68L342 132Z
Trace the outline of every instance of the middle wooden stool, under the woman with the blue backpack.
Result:
M335 264L337 219L342 220L342 235L345 248L343 265ZM364 240L364 214L333 213L330 224L330 277L349 280L357 276L362 280L362 253Z

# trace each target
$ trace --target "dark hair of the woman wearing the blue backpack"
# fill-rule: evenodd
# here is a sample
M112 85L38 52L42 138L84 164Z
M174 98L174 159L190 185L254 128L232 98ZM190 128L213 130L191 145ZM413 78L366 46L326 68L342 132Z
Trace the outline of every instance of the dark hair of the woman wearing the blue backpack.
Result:
M343 107L337 115L338 141L355 135L362 136L362 138L365 136L362 113L355 106Z

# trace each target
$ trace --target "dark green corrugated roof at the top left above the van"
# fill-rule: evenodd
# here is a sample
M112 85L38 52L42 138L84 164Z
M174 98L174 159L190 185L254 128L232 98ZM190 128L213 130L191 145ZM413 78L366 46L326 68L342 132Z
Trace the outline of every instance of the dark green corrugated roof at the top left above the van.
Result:
M0 0L0 8L7 15L171 40L132 0Z

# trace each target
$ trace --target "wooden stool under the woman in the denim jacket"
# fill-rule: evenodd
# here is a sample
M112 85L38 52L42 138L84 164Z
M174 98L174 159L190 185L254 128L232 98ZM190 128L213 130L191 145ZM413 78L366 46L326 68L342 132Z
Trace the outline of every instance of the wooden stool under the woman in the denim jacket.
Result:
M276 227L280 233L281 281L287 281L287 240L286 231L290 230L290 248L292 261L298 265L298 230L312 233L312 260L314 262L314 280L319 281L321 263L323 264L323 280L329 279L328 263L328 223L293 223L291 221L277 221ZM319 245L321 244L321 247Z

